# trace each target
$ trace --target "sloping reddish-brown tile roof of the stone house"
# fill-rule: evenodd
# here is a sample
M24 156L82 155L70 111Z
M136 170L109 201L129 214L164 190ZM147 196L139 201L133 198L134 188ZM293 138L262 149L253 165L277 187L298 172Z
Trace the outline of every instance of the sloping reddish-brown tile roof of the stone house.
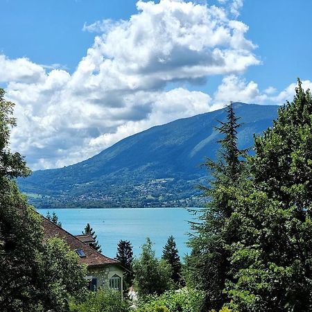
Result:
M44 218L44 216L42 216L42 225L44 227L44 239L50 239L51 237L57 236L64 239L64 241L69 244L71 250L83 250L86 257L79 258L80 263L86 263L88 267L107 266L112 264L121 266L119 261L105 257L100 252L97 252L86 243L83 243L83 241L80 241L78 238L62 229L62 227L58 227L58 225L55 225L47 218Z

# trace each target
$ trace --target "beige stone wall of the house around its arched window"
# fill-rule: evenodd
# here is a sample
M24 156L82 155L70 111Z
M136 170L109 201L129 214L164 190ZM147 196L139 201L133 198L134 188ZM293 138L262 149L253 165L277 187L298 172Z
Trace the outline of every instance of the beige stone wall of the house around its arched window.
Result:
M114 275L121 277L121 289L123 288L123 270L119 266L105 266L101 268L88 268L91 279L96 277L96 288L110 288L110 278Z

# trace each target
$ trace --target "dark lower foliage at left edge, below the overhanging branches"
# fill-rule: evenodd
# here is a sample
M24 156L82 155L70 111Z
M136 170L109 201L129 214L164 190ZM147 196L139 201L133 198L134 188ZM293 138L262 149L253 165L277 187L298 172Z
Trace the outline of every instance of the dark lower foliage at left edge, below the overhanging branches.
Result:
M14 181L0 178L1 311L35 311L39 305L42 225Z

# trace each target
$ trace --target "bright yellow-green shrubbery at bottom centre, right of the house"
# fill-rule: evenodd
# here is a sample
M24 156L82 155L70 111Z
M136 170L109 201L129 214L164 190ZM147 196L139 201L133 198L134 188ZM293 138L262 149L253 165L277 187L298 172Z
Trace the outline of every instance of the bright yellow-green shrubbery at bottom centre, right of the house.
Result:
M137 312L200 312L204 293L182 288L179 291L166 291L160 296L151 295L139 303Z

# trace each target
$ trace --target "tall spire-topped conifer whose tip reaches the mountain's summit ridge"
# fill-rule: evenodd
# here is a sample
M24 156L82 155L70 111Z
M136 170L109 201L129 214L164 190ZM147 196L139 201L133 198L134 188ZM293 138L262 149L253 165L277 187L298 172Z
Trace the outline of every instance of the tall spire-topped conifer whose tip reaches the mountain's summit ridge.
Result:
M224 227L235 207L239 191L244 189L247 168L243 158L247 150L240 150L237 143L238 123L232 102L225 107L226 121L219 121L216 128L223 138L218 141L221 148L216 162L207 159L206 166L212 176L209 187L200 187L209 202L205 209L193 210L198 221L191 222L192 234L189 246L191 255L186 258L184 275L187 284L205 291L205 309L220 309L227 301L223 289L229 278L229 256L227 245L236 239L235 232L224 232Z

